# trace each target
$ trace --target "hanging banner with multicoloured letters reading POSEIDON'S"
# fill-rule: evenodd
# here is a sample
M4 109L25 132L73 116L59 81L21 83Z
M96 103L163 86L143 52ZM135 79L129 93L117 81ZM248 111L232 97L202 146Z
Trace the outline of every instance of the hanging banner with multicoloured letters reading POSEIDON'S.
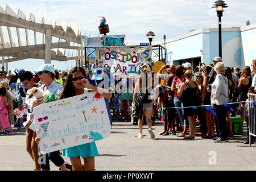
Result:
M146 61L151 64L151 47L97 47L98 68L109 68L114 75L139 74L139 66Z

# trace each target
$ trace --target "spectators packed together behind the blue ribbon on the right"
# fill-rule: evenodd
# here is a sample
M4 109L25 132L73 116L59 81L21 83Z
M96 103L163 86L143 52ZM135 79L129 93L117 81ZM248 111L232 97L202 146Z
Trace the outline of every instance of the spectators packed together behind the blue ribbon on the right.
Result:
M228 142L228 137L233 136L230 117L236 117L241 110L243 121L248 123L248 110L245 109L245 105L249 94L255 93L256 60L253 60L251 67L253 71L249 66L245 66L242 72L237 67L234 73L234 68L225 67L219 56L214 57L213 64L200 63L195 71L192 71L190 63L177 67L163 65L156 73L161 84L153 89L159 94L151 100L153 105L158 105L163 110L164 130L159 135L177 135L184 139L194 139L196 126L200 125L198 136L213 139L214 142ZM144 73L146 72L141 74ZM154 72L146 74L154 75ZM141 82L137 82L137 85L139 84ZM137 93L134 92L133 103L138 107ZM144 105L143 103L144 114L147 115ZM154 138L151 123L149 119L146 120L148 132ZM138 137L143 138L140 125L139 122ZM255 142L254 138L252 142ZM249 143L248 135L244 143Z

